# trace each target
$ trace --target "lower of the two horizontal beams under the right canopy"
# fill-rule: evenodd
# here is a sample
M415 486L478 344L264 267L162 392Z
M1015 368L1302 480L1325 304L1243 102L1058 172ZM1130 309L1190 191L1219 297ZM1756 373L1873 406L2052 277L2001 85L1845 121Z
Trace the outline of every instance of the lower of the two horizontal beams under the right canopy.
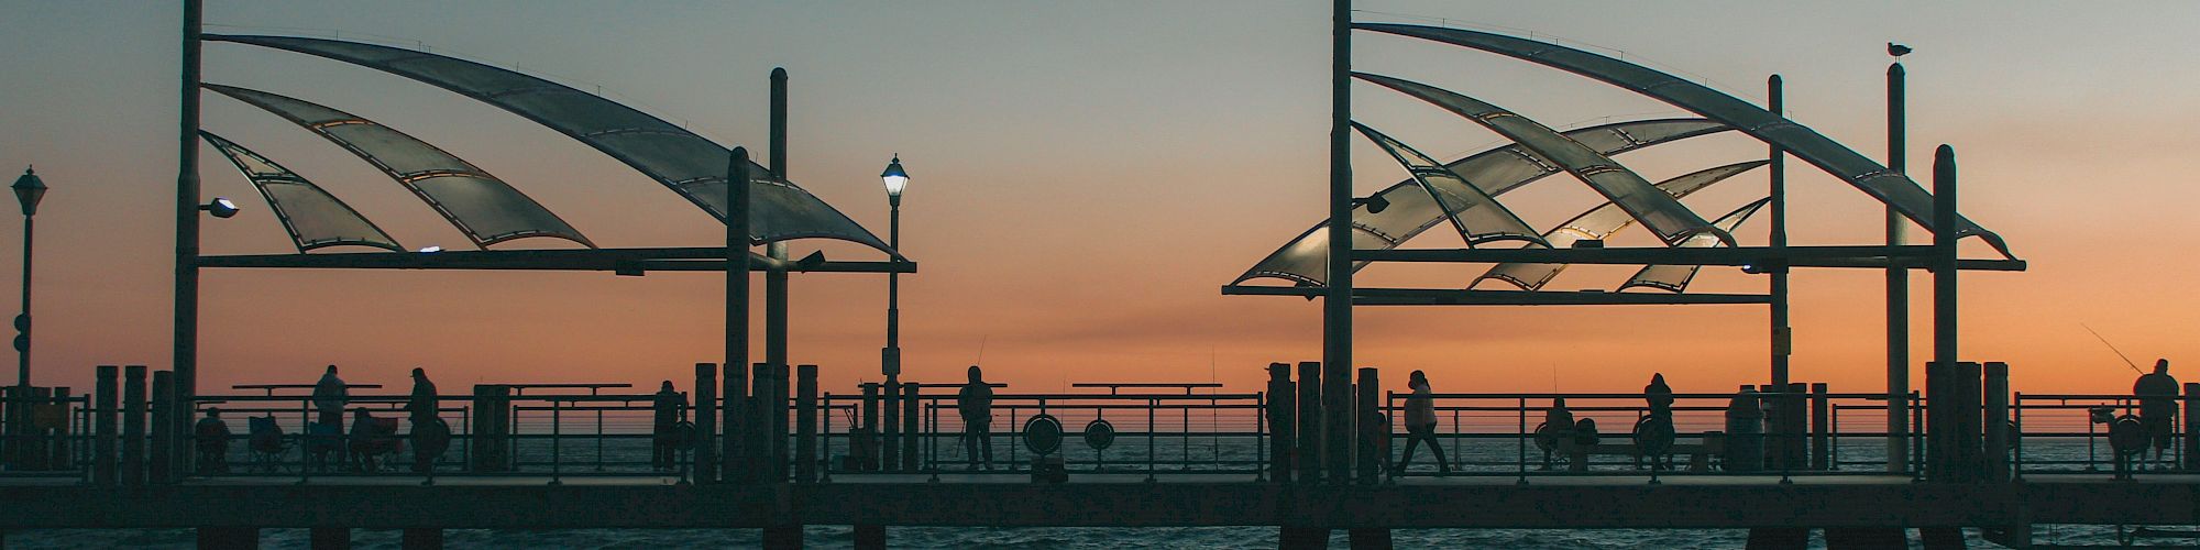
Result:
M1320 286L1223 286L1223 295L1320 297ZM1355 306L1694 306L1771 304L1771 295L1672 295L1672 293L1529 293L1459 288L1353 288Z

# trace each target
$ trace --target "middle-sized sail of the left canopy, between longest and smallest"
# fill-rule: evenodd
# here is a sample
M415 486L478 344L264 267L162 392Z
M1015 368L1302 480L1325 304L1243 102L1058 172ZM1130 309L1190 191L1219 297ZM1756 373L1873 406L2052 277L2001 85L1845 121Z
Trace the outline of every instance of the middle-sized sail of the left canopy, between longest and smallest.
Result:
M205 84L205 88L275 112L356 154L414 191L475 246L486 249L519 238L561 238L596 246L535 198L411 134L295 97L220 84Z

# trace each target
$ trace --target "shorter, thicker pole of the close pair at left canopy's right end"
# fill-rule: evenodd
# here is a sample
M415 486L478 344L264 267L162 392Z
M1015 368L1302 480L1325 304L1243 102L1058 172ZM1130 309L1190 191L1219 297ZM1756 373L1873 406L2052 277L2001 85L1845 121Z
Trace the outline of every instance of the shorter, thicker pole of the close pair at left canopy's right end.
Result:
M735 396L748 392L741 387L748 383L748 147L733 147L733 156L726 161L726 376L719 383L726 389L719 394L726 403L735 403ZM726 464L750 464L739 451L746 449L739 438L733 438L737 427L748 427L741 407L722 407L719 425L726 429L728 438L722 442L719 453ZM737 475L728 471L726 477Z

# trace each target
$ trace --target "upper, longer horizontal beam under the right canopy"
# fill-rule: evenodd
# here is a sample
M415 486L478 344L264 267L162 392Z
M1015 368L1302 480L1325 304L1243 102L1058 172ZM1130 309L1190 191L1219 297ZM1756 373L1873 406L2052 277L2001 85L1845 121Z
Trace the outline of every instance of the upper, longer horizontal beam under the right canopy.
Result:
M1668 266L1795 266L1795 268L1929 268L1932 249L1907 246L1624 246L1624 249L1390 249L1353 251L1355 262L1454 264L1668 264ZM2024 260L1958 260L1967 271L2024 271Z

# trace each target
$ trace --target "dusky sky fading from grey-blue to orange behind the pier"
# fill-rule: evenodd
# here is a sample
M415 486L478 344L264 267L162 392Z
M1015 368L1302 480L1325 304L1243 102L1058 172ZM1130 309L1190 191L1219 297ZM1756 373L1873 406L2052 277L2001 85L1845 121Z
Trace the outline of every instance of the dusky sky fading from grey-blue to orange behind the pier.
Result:
M1437 2L1364 0L1364 22L1454 24L1562 40L1674 70L1749 101L1786 81L1789 117L1885 156L1885 42L1916 48L1910 158L1962 165L1962 211L2031 262L1962 277L1967 361L2009 361L2017 392L2127 392L2134 361L2200 359L2189 205L2200 191L2193 2ZM35 165L33 381L86 387L92 365L169 361L178 9L169 2L0 2L0 167ZM884 235L878 172L900 154L902 356L913 381L983 363L1010 392L1093 381L1221 381L1254 389L1272 361L1320 359L1320 304L1219 286L1322 220L1329 2L249 2L209 0L209 33L429 48L603 92L724 145L763 147L766 75L792 75L790 176ZM1555 128L1683 112L1584 77L1478 51L1362 33L1357 70L1465 92ZM427 139L530 194L601 246L713 246L722 227L647 176L510 112L330 59L207 44L205 79L350 110ZM411 194L308 132L220 95L202 125L312 178L407 246L466 240ZM1355 119L1459 158L1500 145L1478 125L1355 84ZM1621 156L1650 180L1762 158L1720 134ZM1357 194L1406 176L1355 139ZM202 249L295 251L251 185L202 147ZM1870 244L1881 207L1789 163L1791 242ZM1690 196L1716 218L1764 172ZM1553 176L1505 196L1536 227L1599 198ZM20 222L0 220L0 286ZM1461 246L1430 231L1417 249ZM1923 231L1912 231L1923 235ZM1738 231L1764 244L1762 218ZM1615 246L1654 244L1639 229ZM497 249L559 249L519 240ZM834 260L878 253L794 242ZM1967 255L1987 255L1965 244ZM1459 288L1483 266L1377 264L1366 286ZM1553 290L1613 288L1632 266L1577 266ZM1800 271L1795 381L1883 392L1879 271ZM1929 356L1929 277L1914 275L1912 359ZM1767 282L1705 268L1696 293ZM761 279L757 284L761 288ZM878 381L882 275L796 275L794 363L825 392ZM403 387L427 367L469 383L691 385L722 356L724 277L708 273L207 271L200 392L306 383L337 363ZM761 301L761 299L759 299ZM0 304L4 308L4 304ZM761 306L759 306L761 310ZM761 332L761 330L759 330ZM761 359L761 334L757 359ZM1360 308L1357 363L1439 392L1731 392L1769 370L1762 306ZM2191 365L2191 363L2176 363ZM11 372L11 370L0 370ZM1923 367L1914 367L1923 383ZM2182 367L2174 370L2182 372ZM2185 376L2200 381L2200 376ZM0 374L13 383L13 374ZM455 383L455 385L453 385Z

